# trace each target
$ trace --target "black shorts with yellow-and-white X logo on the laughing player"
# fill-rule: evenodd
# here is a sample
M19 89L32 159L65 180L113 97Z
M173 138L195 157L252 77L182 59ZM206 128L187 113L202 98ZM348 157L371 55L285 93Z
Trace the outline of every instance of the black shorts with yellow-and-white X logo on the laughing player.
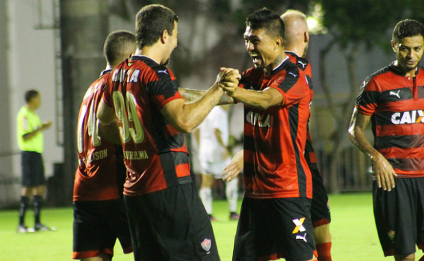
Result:
M241 204L233 261L286 258L310 260L316 256L310 199L250 199Z

